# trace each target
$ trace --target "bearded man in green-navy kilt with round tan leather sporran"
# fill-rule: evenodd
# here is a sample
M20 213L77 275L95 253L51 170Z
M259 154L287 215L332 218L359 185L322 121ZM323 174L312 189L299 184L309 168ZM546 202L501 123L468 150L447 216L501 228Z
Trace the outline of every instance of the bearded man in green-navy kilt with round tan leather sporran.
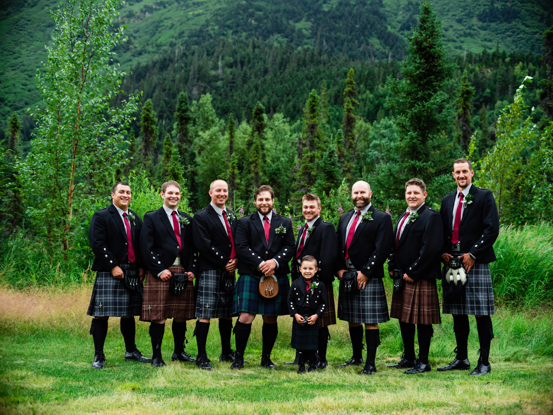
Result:
M261 186L253 197L257 211L238 221L234 242L240 259L240 276L234 290L233 314L240 317L234 325L236 353L231 365L233 370L244 367L244 350L257 314L263 317L261 366L276 369L270 359L278 334L276 317L289 315L286 301L290 289L289 262L294 256L294 231L290 219L273 212L274 197L271 186ZM260 279L273 275L279 292L273 298L264 298L259 293Z

